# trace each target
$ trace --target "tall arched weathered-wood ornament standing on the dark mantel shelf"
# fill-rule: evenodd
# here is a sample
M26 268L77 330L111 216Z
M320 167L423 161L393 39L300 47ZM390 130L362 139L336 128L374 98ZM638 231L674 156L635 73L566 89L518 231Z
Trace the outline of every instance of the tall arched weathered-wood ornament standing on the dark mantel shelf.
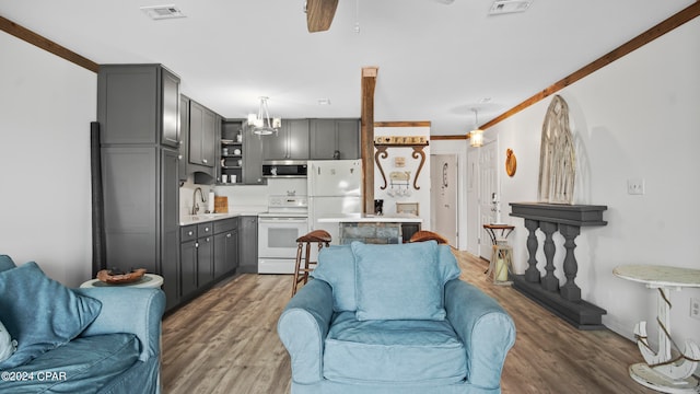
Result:
M560 95L555 95L542 124L538 201L573 204L575 160L573 137L569 128L569 106Z

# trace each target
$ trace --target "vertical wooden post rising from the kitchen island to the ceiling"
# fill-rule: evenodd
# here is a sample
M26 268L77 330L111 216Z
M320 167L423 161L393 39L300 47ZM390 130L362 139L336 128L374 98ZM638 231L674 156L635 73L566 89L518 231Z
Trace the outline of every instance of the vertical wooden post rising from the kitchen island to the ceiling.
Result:
M362 196L364 213L374 213L374 88L377 67L362 68L362 105L360 146L362 153Z

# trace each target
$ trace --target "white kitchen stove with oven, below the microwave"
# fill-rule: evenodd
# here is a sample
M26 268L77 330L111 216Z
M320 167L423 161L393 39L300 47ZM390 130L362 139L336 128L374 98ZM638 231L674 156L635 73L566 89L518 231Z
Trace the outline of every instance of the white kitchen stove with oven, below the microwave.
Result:
M258 274L294 274L296 239L308 232L306 196L270 196L258 215Z

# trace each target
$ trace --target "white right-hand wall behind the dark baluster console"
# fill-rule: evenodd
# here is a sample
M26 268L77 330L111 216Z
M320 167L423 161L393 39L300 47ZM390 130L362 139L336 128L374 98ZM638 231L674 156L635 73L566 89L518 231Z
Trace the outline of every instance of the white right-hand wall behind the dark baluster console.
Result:
M656 343L656 293L615 277L616 266L700 268L698 70L700 19L559 93L569 104L576 146L575 204L608 206L608 225L582 229L576 239L576 283L585 300L607 310L604 324L629 338L634 324L646 320ZM487 131L498 134L499 151L511 148L517 157L515 176L500 176L504 211L510 212L508 202L537 198L541 125L550 102L539 102ZM628 195L629 178L644 178L645 195ZM517 228L510 240L516 270L523 273L527 230L523 219L505 218ZM556 241L561 274L563 239L558 234ZM541 239L538 260L542 266ZM700 343L700 321L689 317L690 297L700 298L700 289L672 293L672 332L678 344L685 338Z

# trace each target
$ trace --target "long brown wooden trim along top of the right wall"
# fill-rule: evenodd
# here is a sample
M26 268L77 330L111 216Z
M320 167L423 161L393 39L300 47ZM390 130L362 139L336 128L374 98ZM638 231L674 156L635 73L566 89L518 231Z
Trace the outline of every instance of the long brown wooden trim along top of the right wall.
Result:
M564 77L562 80L556 82L549 88L538 92L532 97L525 100L524 102L517 104L513 108L504 112L503 114L497 116L495 118L489 120L488 123L481 125L480 129L487 129L497 125L498 123L508 119L509 117L517 114L518 112L527 108L528 106L559 92L560 90L569 86L570 84L585 78L595 71L604 68L605 66L611 63L612 61L628 55L629 53L639 49L640 47L653 42L654 39L663 36L664 34L675 30L676 27L692 21L693 19L700 15L700 1L696 1L695 3L688 5L684 10L677 12L665 21L658 23L654 27L648 30L646 32L638 35L637 37L630 39L629 42L620 45L616 49L603 55L598 59L593 62L584 66L583 68L574 71L568 77Z

